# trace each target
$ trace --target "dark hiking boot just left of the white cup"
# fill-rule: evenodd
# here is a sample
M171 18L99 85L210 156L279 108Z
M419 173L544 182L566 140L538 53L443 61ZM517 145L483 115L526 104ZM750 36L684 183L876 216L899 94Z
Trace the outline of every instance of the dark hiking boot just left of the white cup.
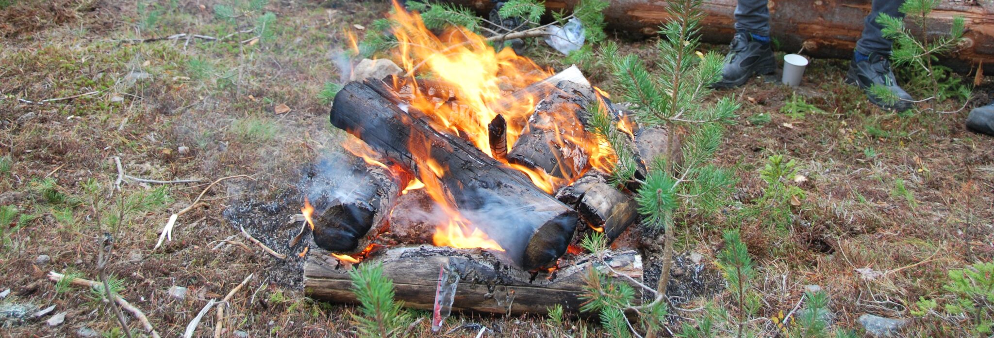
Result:
M722 80L712 84L715 88L732 88L743 85L754 74L768 74L776 70L776 58L769 43L753 39L751 34L737 33L732 40L732 50L725 56Z

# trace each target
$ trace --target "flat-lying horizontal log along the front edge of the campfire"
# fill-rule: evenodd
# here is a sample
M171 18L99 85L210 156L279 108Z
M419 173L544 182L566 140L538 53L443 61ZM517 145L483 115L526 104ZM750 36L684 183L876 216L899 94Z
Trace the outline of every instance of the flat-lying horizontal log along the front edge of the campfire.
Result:
M554 305L579 312L583 277L591 270L613 275L610 270L634 281L642 281L642 260L635 251L610 252L604 260L610 269L589 256L564 259L549 273L530 273L502 265L497 257L481 250L443 247L400 247L367 258L361 264L383 264L385 276L394 281L395 297L409 307L431 309L438 286L439 267L458 273L451 307L456 311L510 314L545 314ZM311 255L304 264L304 290L321 300L355 303L349 270L326 255ZM625 277L618 281L631 283ZM636 299L640 296L636 296Z

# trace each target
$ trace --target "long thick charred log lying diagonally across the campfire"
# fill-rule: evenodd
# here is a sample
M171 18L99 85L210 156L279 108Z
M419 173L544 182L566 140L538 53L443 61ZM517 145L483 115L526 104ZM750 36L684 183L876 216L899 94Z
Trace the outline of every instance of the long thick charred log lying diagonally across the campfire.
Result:
M434 130L421 114L387 83L367 79L345 85L335 96L330 119L395 163L435 171L459 211L499 244L517 267L533 270L555 263L573 237L577 212L521 172L461 138ZM424 148L427 159L415 157L413 146ZM420 168L431 166L419 166L418 160L437 166Z

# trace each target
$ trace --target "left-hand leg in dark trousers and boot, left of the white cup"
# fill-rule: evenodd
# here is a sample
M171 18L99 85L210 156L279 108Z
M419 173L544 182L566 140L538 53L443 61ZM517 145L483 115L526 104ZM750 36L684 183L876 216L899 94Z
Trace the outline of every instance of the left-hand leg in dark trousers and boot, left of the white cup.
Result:
M739 0L736 7L736 33L732 48L725 56L722 80L716 88L743 85L754 74L776 70L776 59L769 46L769 10L766 0Z

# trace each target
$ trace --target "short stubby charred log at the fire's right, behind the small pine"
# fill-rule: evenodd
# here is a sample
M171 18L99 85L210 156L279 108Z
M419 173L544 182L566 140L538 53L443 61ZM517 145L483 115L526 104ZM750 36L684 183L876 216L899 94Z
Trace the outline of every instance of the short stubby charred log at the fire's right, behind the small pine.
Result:
M638 203L607 182L604 173L587 170L579 179L556 193L556 198L573 205L580 218L594 231L613 241L638 221Z

